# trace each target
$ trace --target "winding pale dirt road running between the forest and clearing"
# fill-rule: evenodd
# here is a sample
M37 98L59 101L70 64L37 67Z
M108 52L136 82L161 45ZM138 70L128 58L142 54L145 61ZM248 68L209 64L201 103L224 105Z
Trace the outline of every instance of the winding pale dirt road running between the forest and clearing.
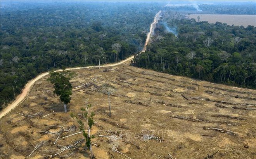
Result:
M149 30L149 33L147 34L147 39L146 39L146 42L145 42L145 46L143 48L143 50L140 52L140 54L142 52L145 52L146 50L146 47L147 47L147 44L149 43L149 39L152 35L152 32L154 31L154 28L159 20L159 15L161 13L161 10L156 14L155 18L154 18L154 22L152 22L152 24L150 24L150 30ZM127 62L131 59L133 59L134 56L131 56L131 57L128 57L127 59L125 60L122 60L118 63L115 63L115 64L105 64L105 65L102 65L100 67L112 67L112 66L117 66L117 65L120 65L120 64L123 64L124 62ZM95 67L99 67L99 66L88 66L88 67L75 67L75 68L67 68L66 70L74 70L74 69L85 69L85 68L95 68ZM62 69L59 69L57 71L63 71ZM12 111L12 109L14 109L15 107L17 107L20 103L22 103L24 100L26 100L26 98L28 97L29 93L30 93L30 90L31 88L33 88L33 85L35 84L36 81L38 81L39 79L47 76L49 73L42 73L40 75L38 75L36 78L32 79L31 81L29 81L24 89L22 90L22 93L16 98L16 100L14 100L14 102L12 102L11 104L9 104L0 114L0 119L5 116L8 112Z

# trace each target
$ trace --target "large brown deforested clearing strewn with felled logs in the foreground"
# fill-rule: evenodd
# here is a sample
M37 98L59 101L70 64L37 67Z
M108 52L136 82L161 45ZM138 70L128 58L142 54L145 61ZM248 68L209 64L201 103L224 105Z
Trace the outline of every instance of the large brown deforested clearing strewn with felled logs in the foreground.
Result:
M36 144L46 141L31 158L47 158L68 148L56 156L74 152L67 158L89 159L85 143L68 147L79 141L81 134L62 138L80 131L77 120L81 118L77 114L89 99L95 112L91 134L95 135L93 143L97 146L92 149L97 159L127 159L111 149L117 143L118 150L132 159L171 159L170 155L173 159L203 159L211 155L214 159L256 158L255 90L202 81L197 92L194 79L131 67L128 63L106 72L106 68L73 70L77 74L71 81L73 95L67 113L46 81L47 76L37 81L28 98L0 121L0 153L10 154L0 157L24 159ZM104 83L116 87L110 96L111 118L108 97L99 92ZM71 112L78 119L72 118ZM76 129L66 131L73 124Z

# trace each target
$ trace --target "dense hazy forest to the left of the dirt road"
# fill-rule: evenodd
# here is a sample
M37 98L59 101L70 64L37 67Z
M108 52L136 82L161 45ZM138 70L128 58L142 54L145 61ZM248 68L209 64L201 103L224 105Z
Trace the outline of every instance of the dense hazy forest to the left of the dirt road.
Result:
M166 3L166 2L165 2ZM143 48L156 2L1 2L0 108L39 73L116 62Z

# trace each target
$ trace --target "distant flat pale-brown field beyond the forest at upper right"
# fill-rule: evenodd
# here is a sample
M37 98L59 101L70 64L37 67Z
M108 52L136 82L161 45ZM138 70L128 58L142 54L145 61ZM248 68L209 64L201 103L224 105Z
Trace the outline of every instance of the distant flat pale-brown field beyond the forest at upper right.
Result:
M199 21L208 21L209 23L222 22L228 25L244 26L248 25L256 26L256 15L227 15L227 14L190 14L189 18L194 18L197 21L197 17L200 17Z

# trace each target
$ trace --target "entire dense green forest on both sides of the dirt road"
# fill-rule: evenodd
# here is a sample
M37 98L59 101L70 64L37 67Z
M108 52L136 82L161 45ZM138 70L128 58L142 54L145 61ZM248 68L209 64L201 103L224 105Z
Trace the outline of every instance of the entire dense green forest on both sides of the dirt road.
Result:
M12 101L24 85L39 73L52 68L98 65L101 55L104 56L100 59L101 63L110 63L138 53L144 46L150 24L159 10L184 12L184 7L164 7L169 2L178 3L1 1L0 108ZM201 13L255 14L256 10L255 2L235 6L233 2L227 5L195 2L199 4ZM195 6L193 4L185 8L186 14L193 13L193 10L197 12ZM230 10L238 6L239 9ZM159 40L152 40L150 50L137 57L137 66L194 78L197 74L195 66L208 66L213 62L209 64L209 69L204 67L202 79L255 88L255 27L214 25L196 22L195 19L190 21L178 12L169 16L176 19L163 17L156 29ZM166 33L166 26L173 26L167 29L170 33ZM214 42L206 49L203 41L208 37ZM193 61L184 57L190 51L196 52ZM159 52L166 57L162 57L161 62L157 57L153 62L151 59ZM220 52L228 58L220 59ZM173 63L172 58L176 54L179 54L178 62ZM147 57L145 61L142 60L144 57ZM175 65L175 71L171 69L172 64ZM235 67L235 72L230 71L230 67ZM208 76L208 73L211 75Z

